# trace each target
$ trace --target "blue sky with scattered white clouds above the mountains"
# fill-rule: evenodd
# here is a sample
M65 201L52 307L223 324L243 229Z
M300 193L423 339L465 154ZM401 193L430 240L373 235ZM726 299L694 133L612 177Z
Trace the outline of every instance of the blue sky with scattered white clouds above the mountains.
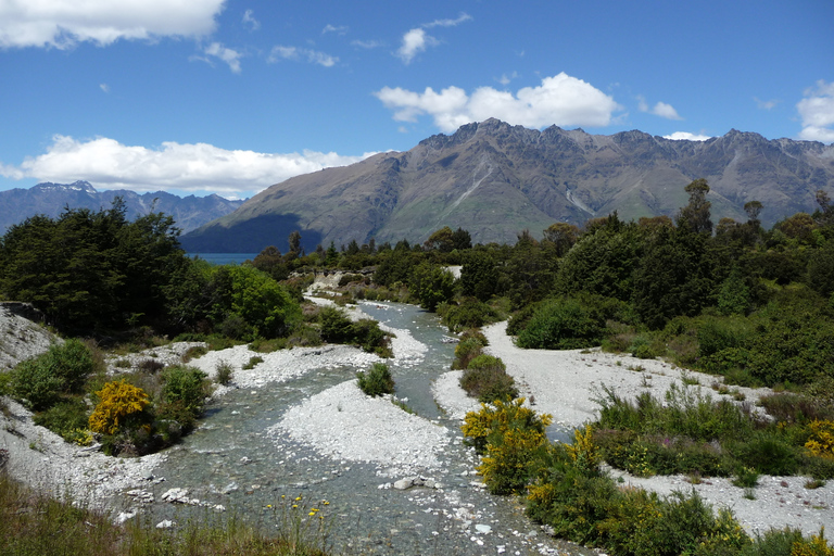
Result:
M0 0L0 190L247 198L497 117L834 142L834 2Z

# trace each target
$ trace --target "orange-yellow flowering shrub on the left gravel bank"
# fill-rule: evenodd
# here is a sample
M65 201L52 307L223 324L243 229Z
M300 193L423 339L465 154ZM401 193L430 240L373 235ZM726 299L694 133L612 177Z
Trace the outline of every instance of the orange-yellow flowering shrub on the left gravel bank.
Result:
M96 395L100 402L90 415L89 425L91 431L102 434L115 434L143 424L146 408L151 404L142 389L124 380L108 382Z

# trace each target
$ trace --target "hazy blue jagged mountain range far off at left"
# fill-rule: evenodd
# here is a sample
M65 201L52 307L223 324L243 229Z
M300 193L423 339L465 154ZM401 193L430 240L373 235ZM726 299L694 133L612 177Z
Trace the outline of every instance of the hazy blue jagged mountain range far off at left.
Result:
M0 191L0 232L9 226L20 224L29 216L46 214L55 217L65 206L71 208L110 208L113 200L121 195L125 200L127 217L151 212L163 212L174 217L184 231L225 216L243 204L243 201L229 201L218 195L186 198L165 191L155 193L136 193L128 190L97 191L87 181L74 184L38 184L29 189L10 189Z

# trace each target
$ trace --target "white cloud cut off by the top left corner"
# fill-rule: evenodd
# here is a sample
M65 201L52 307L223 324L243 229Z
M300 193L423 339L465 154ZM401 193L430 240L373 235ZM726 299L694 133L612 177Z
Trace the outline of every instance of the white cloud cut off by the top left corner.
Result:
M0 48L71 48L212 33L224 0L3 0Z

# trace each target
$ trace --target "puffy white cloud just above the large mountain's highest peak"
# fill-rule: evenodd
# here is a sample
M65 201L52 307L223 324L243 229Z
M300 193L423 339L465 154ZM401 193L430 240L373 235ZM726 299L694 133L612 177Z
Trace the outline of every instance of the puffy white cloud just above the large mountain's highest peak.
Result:
M458 87L424 92L383 87L374 93L394 110L397 122L416 122L428 114L442 131L456 130L470 122L496 117L528 127L593 126L611 123L612 113L622 110L615 100L592 85L565 73L542 79L539 87L525 87L515 94L492 87L476 89L471 96Z

